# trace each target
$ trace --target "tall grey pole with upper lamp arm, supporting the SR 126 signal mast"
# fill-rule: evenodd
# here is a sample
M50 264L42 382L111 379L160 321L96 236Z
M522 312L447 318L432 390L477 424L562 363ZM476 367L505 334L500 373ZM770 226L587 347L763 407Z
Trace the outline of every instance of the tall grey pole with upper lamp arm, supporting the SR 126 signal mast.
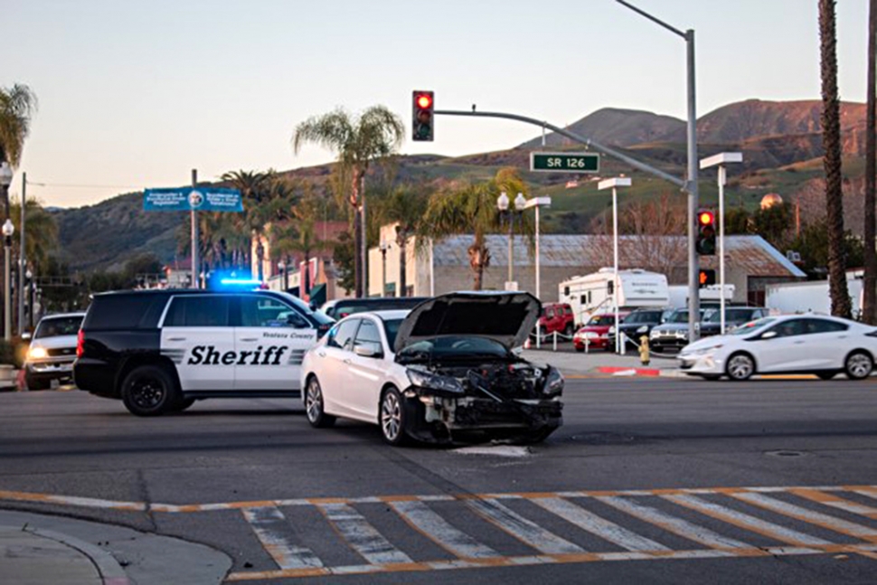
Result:
M685 40L686 45L686 69L688 82L688 173L685 176L684 190L688 192L688 339L691 343L697 341L700 336L700 315L701 315L701 299L699 297L700 288L698 275L700 267L698 266L697 250L697 206L699 204L698 188L697 188L697 100L694 84L694 30L688 29L684 33L670 24L666 24L661 19L648 14L645 10L631 5L626 0L616 0L618 4L623 5L635 13L652 21L659 26L663 26L666 30L681 36Z

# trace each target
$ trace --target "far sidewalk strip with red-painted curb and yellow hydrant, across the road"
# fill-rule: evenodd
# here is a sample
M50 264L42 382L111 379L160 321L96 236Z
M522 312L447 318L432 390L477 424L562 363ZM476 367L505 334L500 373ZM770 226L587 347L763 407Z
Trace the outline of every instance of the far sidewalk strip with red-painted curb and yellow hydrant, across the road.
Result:
M569 344L566 347L568 348ZM552 352L551 345L549 345L547 349L525 349L521 356L534 363L550 363L567 377L589 374L685 376L676 367L675 357L669 355L654 357L648 365L643 365L636 352L628 352L627 355L602 351L589 354L569 351Z

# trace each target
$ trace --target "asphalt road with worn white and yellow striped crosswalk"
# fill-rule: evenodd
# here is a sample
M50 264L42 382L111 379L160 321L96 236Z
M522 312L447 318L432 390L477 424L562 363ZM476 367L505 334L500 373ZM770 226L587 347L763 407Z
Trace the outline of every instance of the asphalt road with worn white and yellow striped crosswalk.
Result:
M565 401L544 444L473 454L311 429L291 401L137 419L5 393L0 507L204 543L235 581L877 580L877 380L592 378Z

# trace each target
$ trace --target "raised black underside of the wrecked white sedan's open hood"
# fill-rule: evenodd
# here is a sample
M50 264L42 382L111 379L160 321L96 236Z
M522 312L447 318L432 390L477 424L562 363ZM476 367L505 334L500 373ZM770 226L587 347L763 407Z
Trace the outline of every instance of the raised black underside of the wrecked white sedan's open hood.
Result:
M457 292L430 298L402 321L394 351L445 335L475 335L508 349L520 347L536 326L540 308L539 300L525 292Z

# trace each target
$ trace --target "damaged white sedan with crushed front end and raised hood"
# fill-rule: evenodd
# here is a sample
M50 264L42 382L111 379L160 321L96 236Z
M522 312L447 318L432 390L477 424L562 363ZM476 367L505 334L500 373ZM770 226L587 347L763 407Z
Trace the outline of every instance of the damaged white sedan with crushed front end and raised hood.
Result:
M349 316L302 364L307 420L377 423L383 439L533 443L562 424L563 377L512 352L539 317L528 293L451 293Z

